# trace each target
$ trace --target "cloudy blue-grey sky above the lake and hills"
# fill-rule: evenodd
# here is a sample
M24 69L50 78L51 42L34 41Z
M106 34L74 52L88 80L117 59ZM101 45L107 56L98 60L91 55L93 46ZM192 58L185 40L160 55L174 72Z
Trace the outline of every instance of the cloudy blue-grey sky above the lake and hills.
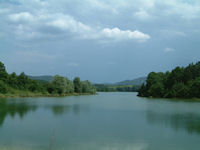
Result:
M0 0L9 73L116 82L200 57L197 0Z

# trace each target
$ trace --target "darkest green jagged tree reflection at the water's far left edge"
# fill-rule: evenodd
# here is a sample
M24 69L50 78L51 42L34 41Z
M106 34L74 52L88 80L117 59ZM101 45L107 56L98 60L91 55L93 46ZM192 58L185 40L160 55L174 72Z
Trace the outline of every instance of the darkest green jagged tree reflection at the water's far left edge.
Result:
M7 101L5 99L0 100L0 126L3 125L7 116L14 118L16 115L21 119L30 111L36 111L36 105L29 105L25 102Z

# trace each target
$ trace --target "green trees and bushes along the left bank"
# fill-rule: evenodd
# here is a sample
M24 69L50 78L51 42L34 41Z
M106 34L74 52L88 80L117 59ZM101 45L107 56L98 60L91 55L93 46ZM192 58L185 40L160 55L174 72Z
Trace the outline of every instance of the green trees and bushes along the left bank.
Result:
M42 95L69 95L73 93L96 93L96 89L89 81L81 81L79 77L73 81L56 75L51 82L30 79L25 73L8 74L0 62L0 94L40 93Z

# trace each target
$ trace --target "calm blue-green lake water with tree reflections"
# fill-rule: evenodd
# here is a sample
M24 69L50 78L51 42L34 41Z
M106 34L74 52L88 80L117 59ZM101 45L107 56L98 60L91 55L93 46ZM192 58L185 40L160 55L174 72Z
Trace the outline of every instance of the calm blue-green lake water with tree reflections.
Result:
M0 100L0 150L200 148L200 102L136 94Z

